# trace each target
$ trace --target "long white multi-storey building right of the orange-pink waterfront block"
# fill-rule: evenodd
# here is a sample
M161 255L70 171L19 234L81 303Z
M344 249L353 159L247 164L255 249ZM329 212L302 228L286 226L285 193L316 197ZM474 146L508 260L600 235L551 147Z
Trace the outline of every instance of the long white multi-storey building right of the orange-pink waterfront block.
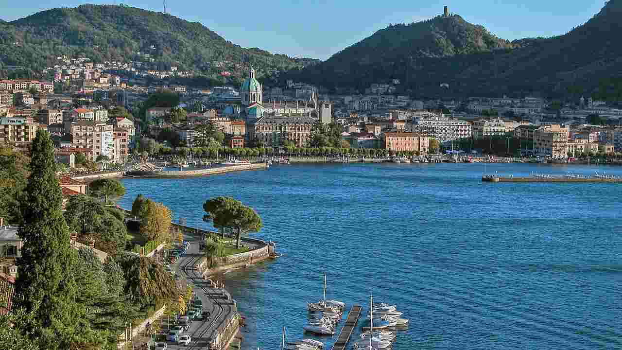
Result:
M406 131L435 138L440 143L471 137L471 124L468 121L446 116L422 116L412 120Z

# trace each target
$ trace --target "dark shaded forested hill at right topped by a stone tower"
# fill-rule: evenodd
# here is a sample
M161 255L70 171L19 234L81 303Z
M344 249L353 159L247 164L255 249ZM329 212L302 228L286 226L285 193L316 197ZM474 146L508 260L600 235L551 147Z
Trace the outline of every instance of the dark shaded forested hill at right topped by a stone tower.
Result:
M622 77L622 0L548 39L499 40L460 16L382 29L326 62L292 72L328 88L402 82L419 97L543 93L578 95ZM449 90L440 88L448 83Z

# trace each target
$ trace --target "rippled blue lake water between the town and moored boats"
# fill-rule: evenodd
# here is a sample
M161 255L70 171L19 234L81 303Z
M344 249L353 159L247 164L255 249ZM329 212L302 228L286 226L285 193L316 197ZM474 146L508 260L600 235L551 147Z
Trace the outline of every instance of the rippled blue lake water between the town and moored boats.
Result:
M396 350L622 349L622 184L490 184L480 164L301 164L192 179L124 179L189 225L231 196L284 257L223 278L244 349L302 338L305 302L397 304ZM488 173L622 176L622 168L488 164ZM331 346L332 338L320 338Z

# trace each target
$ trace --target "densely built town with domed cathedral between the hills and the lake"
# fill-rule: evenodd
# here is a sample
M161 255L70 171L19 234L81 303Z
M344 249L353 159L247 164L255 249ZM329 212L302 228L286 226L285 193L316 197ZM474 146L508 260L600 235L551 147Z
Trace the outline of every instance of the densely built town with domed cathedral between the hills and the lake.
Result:
M53 72L53 81L0 81L0 142L26 148L38 129L47 130L68 168L76 168L70 155L77 153L94 169L124 164L148 138L169 153L206 146L328 146L361 154L382 149L392 155L448 152L568 161L613 158L622 151L622 109L592 97L564 106L532 97L415 100L395 94L399 80L373 83L364 94L328 95L321 87L291 80L264 87L252 67L239 67L246 69L241 86L190 88L157 83L192 74L176 67L137 71L141 62L58 59L62 65L42 70L42 76ZM144 75L156 80L144 85ZM175 96L160 101L159 92ZM338 128L338 140L314 138L317 123ZM206 130L219 133L206 140ZM506 147L495 147L498 140Z

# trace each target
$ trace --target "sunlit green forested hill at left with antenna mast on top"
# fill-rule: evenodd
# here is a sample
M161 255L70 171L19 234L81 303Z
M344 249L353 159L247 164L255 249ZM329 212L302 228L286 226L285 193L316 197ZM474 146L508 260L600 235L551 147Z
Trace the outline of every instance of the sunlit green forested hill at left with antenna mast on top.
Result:
M63 54L84 55L94 62L145 60L144 54L149 54L162 67L175 65L202 72L210 70L212 61L279 70L318 62L243 49L200 23L123 5L50 9L0 22L2 64L40 70Z

